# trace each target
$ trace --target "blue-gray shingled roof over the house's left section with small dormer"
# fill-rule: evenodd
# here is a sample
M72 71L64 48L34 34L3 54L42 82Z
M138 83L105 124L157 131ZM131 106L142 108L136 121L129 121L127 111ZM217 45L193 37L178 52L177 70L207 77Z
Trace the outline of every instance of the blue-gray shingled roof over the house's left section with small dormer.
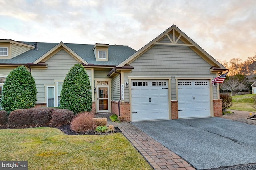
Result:
M34 45L34 42L22 42L28 45ZM108 61L96 61L94 56L94 45L88 44L69 44L69 43L40 43L38 50L31 49L12 59L0 59L0 64L40 64L48 55L59 47L65 49L78 61L84 64L94 65L112 65L116 66L130 57L136 50L123 45L110 45L108 48ZM44 62L44 61L43 61Z

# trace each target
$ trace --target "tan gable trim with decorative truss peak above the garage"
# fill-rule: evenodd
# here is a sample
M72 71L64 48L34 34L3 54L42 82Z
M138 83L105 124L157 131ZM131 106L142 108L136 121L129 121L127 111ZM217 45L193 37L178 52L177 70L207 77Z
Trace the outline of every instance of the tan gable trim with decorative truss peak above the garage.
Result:
M170 33L172 33L173 37L170 37ZM168 37L170 43L161 43L160 41ZM183 44L178 43L178 40L182 41ZM135 59L140 57L143 53L145 53L148 49L153 47L156 44L160 45L178 45L178 46L188 46L195 53L197 53L200 57L202 57L206 62L210 65L214 66L214 70L212 71L223 71L227 70L222 64L216 61L211 55L209 55L206 51L204 51L199 45L197 45L192 39L190 39L185 33L183 33L176 25L172 25L170 28L166 29L162 34L158 37L150 41L147 45L139 49L136 53L131 55L128 59L120 63L117 67L122 67L126 64L132 63ZM219 70L218 70L219 68ZM209 68L210 69L210 68ZM212 69L212 68L211 68Z

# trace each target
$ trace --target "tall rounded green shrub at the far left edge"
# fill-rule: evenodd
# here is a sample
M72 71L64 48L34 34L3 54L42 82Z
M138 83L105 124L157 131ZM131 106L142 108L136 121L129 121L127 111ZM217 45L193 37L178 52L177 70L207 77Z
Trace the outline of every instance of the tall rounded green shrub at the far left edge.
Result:
M33 108L36 94L34 78L25 66L18 66L4 82L1 107L8 113L16 109Z

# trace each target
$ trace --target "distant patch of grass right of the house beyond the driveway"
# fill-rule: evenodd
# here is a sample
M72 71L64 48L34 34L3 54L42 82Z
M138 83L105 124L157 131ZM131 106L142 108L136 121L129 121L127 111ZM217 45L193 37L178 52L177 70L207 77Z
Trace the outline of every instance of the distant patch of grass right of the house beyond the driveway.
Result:
M253 108L253 96L255 95L256 94L245 94L232 96L233 105L229 109L256 112L256 109Z

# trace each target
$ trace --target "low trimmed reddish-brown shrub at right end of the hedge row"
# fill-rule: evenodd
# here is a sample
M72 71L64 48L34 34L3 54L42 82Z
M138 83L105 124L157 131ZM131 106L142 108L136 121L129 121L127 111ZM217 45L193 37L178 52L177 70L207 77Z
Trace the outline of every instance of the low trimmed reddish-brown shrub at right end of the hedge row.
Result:
M69 125L74 117L74 112L67 109L54 109L52 112L51 125L62 126Z

